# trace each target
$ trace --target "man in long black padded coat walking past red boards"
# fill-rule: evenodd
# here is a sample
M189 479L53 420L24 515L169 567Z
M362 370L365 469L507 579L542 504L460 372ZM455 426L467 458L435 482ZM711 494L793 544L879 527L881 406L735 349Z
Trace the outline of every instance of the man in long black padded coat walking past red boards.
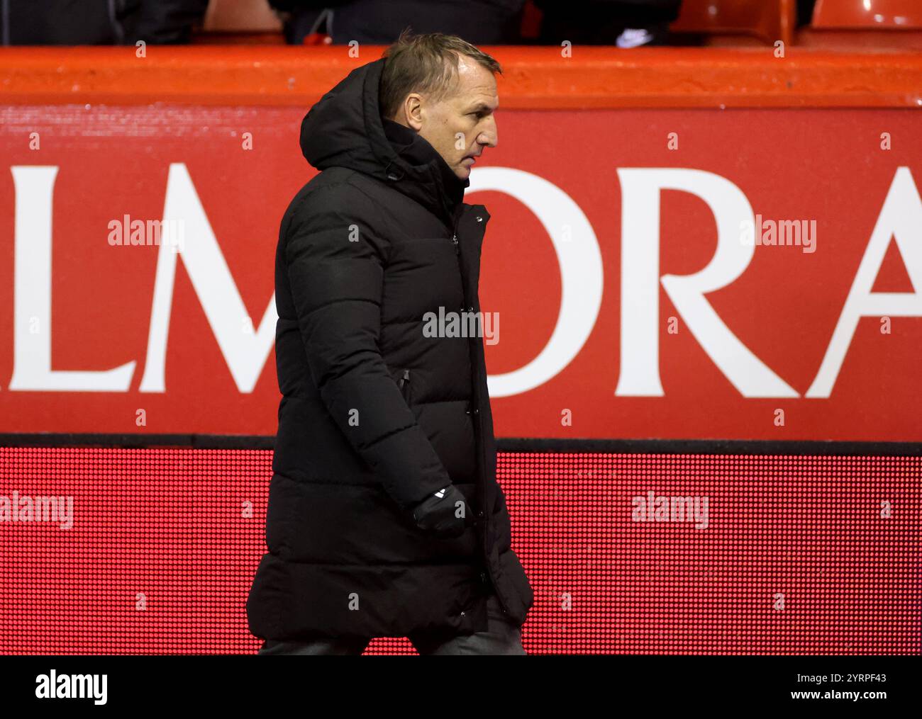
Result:
M405 32L301 123L321 173L278 239L283 397L247 601L262 654L361 654L378 636L525 654L534 595L496 482L482 337L424 332L427 313L480 311L490 215L463 199L497 143L496 72L455 36Z

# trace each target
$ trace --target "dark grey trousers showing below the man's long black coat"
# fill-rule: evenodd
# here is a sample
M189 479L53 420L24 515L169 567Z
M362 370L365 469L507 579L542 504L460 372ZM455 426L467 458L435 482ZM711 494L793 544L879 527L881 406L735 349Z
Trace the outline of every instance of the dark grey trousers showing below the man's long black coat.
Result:
M420 655L526 655L522 647L522 628L506 620L496 595L487 597L487 631L436 639L412 634L409 641ZM372 641L368 639L320 639L313 642L271 639L263 643L259 655L361 655Z

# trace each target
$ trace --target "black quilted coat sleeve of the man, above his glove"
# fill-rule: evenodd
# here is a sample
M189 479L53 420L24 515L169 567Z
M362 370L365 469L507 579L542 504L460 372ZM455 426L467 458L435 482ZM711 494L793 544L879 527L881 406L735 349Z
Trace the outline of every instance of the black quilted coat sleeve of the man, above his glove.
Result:
M451 484L379 349L387 243L361 191L310 192L285 235L291 294L313 383L327 412L407 509Z

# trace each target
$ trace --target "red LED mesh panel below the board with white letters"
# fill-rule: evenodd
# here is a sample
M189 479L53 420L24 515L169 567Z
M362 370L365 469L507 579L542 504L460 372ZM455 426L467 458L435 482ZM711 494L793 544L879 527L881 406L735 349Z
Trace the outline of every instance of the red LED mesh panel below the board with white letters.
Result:
M255 652L271 458L0 447L18 519L63 498L0 521L0 653ZM529 654L920 653L922 458L502 452L498 471Z

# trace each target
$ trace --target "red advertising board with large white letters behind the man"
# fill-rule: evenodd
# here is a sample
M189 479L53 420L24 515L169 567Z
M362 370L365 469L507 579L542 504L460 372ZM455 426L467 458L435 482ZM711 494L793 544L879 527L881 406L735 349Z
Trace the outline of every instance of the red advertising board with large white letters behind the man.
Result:
M0 108L0 432L275 433L304 110ZM920 117L499 110L497 435L922 441Z

